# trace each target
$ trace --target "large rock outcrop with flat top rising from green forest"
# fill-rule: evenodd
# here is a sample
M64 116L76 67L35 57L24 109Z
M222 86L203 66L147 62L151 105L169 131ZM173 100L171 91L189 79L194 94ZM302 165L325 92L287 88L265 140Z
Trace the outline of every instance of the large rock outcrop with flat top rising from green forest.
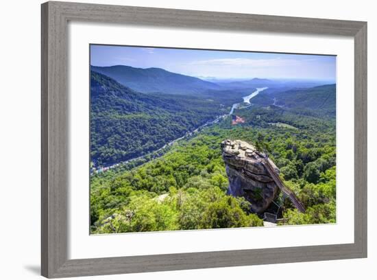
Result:
M278 186L263 165L265 154L241 140L225 140L221 150L229 179L228 194L245 197L252 203L252 211L263 213L279 194ZM278 173L278 167L267 160Z

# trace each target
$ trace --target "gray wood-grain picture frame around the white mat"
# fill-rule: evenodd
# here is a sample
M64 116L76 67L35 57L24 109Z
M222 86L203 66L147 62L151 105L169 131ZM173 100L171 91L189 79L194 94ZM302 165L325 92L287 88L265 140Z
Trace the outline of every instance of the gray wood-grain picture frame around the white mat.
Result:
M69 21L354 38L354 243L138 257L68 259ZM367 23L119 5L42 4L42 248L45 277L250 266L367 257Z

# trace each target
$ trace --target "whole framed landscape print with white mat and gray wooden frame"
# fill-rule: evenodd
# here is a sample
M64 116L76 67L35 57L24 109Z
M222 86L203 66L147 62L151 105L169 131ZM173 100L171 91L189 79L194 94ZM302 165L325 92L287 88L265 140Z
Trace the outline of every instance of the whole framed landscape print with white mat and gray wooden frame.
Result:
M367 256L367 24L42 4L42 275Z

